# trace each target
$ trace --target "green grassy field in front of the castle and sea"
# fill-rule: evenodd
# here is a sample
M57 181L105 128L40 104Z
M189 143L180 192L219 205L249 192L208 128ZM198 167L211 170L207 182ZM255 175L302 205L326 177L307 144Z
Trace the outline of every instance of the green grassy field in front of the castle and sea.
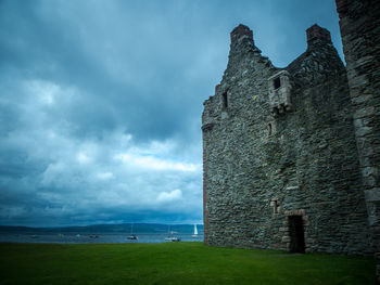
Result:
M375 284L375 261L165 244L0 244L0 284Z

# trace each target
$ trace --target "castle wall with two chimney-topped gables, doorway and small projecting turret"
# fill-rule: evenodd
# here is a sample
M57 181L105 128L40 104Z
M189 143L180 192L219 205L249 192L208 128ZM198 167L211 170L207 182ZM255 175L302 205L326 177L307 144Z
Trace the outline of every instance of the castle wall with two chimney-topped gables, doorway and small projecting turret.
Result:
M202 117L206 244L289 249L300 216L306 251L371 252L346 75L326 31L313 27L279 69L248 27L232 30Z

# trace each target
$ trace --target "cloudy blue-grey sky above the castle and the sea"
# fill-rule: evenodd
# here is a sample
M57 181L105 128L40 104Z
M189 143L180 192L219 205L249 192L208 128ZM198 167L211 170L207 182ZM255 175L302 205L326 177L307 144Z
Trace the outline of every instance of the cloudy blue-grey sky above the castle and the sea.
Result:
M0 1L0 224L202 223L203 101L229 33L283 67L332 0Z

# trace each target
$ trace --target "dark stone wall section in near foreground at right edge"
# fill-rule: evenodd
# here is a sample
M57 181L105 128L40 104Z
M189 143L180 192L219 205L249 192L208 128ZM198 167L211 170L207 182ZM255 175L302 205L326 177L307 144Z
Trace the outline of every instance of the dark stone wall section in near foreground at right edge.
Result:
M380 284L380 1L335 2Z

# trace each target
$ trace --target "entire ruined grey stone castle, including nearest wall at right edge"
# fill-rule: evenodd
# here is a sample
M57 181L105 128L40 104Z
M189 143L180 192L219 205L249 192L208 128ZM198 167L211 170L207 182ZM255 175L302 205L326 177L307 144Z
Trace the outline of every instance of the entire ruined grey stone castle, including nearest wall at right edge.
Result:
M231 31L202 115L207 245L380 260L379 3L337 0L346 67L318 25L284 68Z

